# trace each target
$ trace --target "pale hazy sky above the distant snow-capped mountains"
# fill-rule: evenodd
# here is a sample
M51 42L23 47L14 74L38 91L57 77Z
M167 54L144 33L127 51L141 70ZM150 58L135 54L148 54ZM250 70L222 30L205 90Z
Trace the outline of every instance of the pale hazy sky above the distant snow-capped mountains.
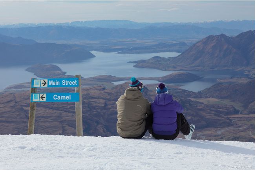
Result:
M0 24L255 20L255 1L0 1Z

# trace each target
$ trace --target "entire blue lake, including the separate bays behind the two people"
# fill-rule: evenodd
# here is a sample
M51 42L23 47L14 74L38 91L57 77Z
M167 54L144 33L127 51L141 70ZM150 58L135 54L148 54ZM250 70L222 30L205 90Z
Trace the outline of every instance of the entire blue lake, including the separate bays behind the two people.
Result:
M150 54L117 54L91 51L96 57L84 60L82 62L74 62L69 64L58 65L68 75L82 75L83 77L91 77L97 75L113 75L120 77L135 76L135 77L158 77L165 76L176 71L161 71L149 68L135 68L133 63L129 61L149 59L153 56L174 57L180 53L165 52L165 53L150 53ZM15 67L0 67L0 89L4 89L8 85L30 82L31 78L37 78L33 73L25 71L29 66ZM231 76L244 76L242 72L237 71L187 71L194 73L204 78L188 83L173 83L174 85L182 85L181 88L189 91L200 91L210 87L217 82L218 78L230 78ZM127 80L129 81L129 80ZM155 80L142 80L144 84L158 83ZM126 81L114 82L114 84L122 84Z

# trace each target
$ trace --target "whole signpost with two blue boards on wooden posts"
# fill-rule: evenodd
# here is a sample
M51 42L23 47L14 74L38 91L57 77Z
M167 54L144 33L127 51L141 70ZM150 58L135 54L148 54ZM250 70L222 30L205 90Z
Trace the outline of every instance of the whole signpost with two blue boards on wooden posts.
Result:
M37 93L37 88L40 87L75 87L75 93ZM31 79L27 135L34 133L36 102L75 102L77 136L83 136L81 75L76 75L75 78Z

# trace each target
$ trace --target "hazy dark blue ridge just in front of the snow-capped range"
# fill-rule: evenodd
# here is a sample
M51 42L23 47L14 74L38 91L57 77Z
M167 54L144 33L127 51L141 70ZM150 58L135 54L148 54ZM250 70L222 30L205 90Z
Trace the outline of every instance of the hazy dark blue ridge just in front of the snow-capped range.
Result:
M203 38L208 35L237 35L238 29L203 28L194 25L148 26L142 29L109 29L70 26L38 26L22 28L0 28L0 34L42 41L56 40L107 40L124 38Z

